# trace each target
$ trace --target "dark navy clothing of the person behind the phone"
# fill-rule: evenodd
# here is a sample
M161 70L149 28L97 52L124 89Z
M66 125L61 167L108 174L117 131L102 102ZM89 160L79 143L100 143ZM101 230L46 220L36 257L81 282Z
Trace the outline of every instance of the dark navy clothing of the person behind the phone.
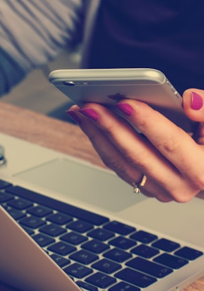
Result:
M89 67L150 67L180 93L204 89L203 19L200 0L102 0Z

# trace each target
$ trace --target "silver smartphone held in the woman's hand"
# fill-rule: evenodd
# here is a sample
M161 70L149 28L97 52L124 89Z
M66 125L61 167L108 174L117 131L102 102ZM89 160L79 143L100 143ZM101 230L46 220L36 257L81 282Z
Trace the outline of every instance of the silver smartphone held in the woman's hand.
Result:
M195 127L183 112L181 95L156 69L63 69L52 71L49 82L79 106L95 102L115 108L120 100L140 100L186 132Z

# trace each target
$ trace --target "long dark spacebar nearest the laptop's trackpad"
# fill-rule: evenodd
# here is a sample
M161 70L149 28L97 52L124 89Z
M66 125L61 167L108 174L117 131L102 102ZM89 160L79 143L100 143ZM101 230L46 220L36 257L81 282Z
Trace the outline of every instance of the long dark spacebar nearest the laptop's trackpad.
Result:
M28 200L31 200L33 202L36 202L38 204L51 207L52 209L55 209L57 211L61 211L63 213L69 214L70 216L73 216L75 218L80 218L82 220L85 220L87 222L94 223L95 225L101 225L105 222L109 221L109 218L106 218L104 216L100 216L99 214L80 209L78 207L75 207L73 205L69 205L65 202L61 202L59 200L55 200L53 198L49 198L47 196L44 196L42 194L38 194L34 191L25 189L23 187L19 186L10 186L6 188L6 191L10 192L11 194L14 194L16 196L20 196L21 198L25 198Z

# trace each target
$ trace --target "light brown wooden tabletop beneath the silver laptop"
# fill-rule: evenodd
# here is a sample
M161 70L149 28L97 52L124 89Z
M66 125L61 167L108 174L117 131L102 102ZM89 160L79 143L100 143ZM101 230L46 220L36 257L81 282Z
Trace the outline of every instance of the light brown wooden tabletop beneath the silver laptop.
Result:
M87 137L78 126L68 122L0 102L0 132L65 154L71 154L104 167ZM7 288L0 283L0 290L10 291L14 289ZM204 291L204 277L184 290Z

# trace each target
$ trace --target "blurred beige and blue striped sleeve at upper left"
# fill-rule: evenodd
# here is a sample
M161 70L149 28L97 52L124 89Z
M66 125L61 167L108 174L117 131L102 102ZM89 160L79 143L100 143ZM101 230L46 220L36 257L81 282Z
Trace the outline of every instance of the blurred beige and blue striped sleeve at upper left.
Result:
M69 45L81 16L81 0L0 0L0 92Z

